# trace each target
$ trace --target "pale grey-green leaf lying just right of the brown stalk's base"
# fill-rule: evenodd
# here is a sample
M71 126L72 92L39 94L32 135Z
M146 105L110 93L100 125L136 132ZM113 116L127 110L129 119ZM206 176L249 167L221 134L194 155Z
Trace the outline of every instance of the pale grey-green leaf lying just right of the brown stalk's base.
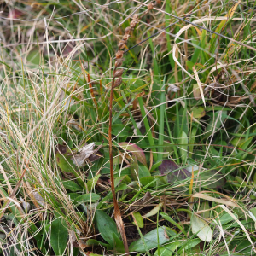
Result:
M143 239L140 238L139 240L132 242L129 247L130 252L145 253L146 247L143 244L143 240L145 241L145 245L148 247L148 250L164 244L166 241L169 241L166 227L159 227L158 229L154 229L143 236Z

